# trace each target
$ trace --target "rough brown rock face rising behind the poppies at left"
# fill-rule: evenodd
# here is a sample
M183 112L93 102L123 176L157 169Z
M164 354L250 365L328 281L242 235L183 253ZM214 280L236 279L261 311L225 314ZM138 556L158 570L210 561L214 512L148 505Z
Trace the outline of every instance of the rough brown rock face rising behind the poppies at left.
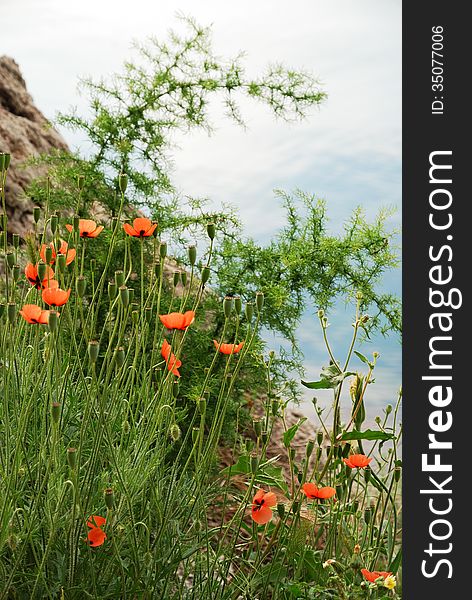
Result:
M17 63L1 56L0 151L11 154L5 188L10 234L24 235L32 228L33 202L25 196L25 189L32 179L46 174L42 167L25 168L22 163L54 149L68 150L68 147L34 105Z

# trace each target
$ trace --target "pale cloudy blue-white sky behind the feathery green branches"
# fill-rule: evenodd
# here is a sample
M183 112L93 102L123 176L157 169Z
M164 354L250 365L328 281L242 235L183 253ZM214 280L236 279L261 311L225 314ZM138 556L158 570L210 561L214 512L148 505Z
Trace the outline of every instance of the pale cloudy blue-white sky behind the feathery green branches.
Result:
M316 75L328 99L307 121L274 120L263 106L244 103L247 128L225 121L215 107L214 132L178 139L174 182L184 194L215 206L233 204L245 230L263 242L283 226L274 189L302 189L327 202L332 231L353 208L374 216L380 207L398 211L401 222L401 1L400 0L0 0L0 54L20 65L30 93L45 115L86 109L78 77L106 77L132 56L134 40L182 31L177 13L212 25L216 54L245 53L247 72L257 76L282 62ZM80 139L61 130L69 144ZM400 292L400 272L385 289ZM313 311L299 334L307 378L323 364ZM342 350L350 310L339 304L330 318ZM335 324L335 325L334 325ZM380 361L374 402L394 400L400 382L396 339L375 338L366 349ZM360 365L359 365L360 366Z

